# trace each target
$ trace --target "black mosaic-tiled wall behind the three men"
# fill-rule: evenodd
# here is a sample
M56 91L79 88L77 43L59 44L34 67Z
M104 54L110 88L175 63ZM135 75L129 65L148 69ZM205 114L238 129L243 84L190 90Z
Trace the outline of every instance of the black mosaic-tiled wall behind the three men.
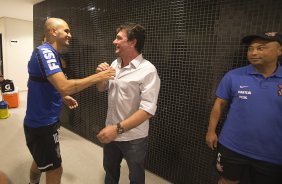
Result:
M81 78L115 59L120 23L144 25L143 54L161 78L146 167L176 184L212 184L218 176L205 133L215 89L226 71L248 63L242 36L282 31L281 10L280 0L45 0L34 6L34 46L46 17L65 19L73 36L63 54L67 73ZM95 86L74 95L79 108L63 109L63 125L101 145L96 134L104 127L106 96Z

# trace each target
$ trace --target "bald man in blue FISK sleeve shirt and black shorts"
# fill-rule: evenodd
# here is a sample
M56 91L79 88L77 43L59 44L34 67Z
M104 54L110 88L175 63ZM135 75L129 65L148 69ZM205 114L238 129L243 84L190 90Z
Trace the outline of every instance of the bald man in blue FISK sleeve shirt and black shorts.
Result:
M71 109L77 107L76 100L68 95L101 80L113 79L115 69L108 68L83 79L67 80L58 53L69 45L70 28L62 19L49 18L44 32L46 42L33 51L28 62L24 132L34 159L30 168L30 184L39 183L41 172L46 172L46 184L60 184L63 169L57 129L62 101Z

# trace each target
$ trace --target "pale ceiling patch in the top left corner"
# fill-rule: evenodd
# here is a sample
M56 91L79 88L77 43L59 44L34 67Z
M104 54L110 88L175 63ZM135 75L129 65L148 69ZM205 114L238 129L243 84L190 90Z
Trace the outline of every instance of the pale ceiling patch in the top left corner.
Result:
M33 20L33 5L44 0L0 0L0 17Z

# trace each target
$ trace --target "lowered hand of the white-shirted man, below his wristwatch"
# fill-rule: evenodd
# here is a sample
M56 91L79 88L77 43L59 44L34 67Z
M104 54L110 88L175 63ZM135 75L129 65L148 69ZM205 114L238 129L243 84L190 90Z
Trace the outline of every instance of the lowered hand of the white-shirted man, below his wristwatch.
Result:
M99 132L97 138L101 143L107 144L112 142L117 136L116 125L108 125Z

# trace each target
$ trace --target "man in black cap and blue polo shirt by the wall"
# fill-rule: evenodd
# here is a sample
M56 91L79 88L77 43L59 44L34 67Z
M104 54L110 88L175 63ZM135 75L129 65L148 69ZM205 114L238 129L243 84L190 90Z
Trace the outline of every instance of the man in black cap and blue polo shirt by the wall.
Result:
M219 184L281 184L282 35L249 35L242 42L248 45L250 65L229 71L221 80L206 142L212 150L218 148ZM216 127L228 106L218 140Z

